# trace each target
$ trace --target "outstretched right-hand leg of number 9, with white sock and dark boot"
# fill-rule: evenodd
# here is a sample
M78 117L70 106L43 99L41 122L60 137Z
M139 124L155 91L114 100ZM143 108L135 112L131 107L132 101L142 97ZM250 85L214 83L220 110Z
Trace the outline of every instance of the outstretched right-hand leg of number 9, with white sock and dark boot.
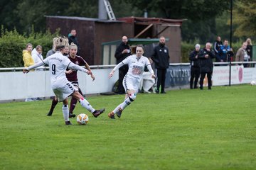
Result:
M82 95L78 92L75 91L73 94L71 94L71 96L73 96L74 98L76 98L79 103L81 104L81 106L83 108L86 108L87 111L90 111L90 113L92 113L92 115L97 118L101 113L103 113L105 111L105 108L102 108L100 110L95 110L95 108L93 108L90 103L82 97Z

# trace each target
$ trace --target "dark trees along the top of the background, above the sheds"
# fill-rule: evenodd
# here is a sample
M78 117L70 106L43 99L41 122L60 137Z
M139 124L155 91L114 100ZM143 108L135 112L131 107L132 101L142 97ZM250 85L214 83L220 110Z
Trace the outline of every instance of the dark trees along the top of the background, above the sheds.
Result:
M233 0L235 35L255 35L255 0ZM188 19L182 25L183 40L206 42L222 34L227 37L227 17L220 18L230 9L230 1L223 0L110 0L117 18L124 16ZM1 0L0 22L8 30L18 33L46 31L45 16L82 16L97 18L98 0ZM216 23L216 19L217 22ZM220 23L219 23L220 22ZM218 29L217 29L218 28ZM219 30L223 28L225 30ZM223 32L220 32L223 31ZM228 33L229 34L229 33Z

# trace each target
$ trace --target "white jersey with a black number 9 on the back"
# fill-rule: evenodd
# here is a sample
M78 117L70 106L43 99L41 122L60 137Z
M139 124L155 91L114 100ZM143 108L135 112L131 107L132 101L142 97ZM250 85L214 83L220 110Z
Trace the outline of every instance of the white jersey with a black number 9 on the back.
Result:
M61 85L64 86L68 82L65 75L65 71L71 63L68 57L65 57L60 52L55 52L55 54L50 55L43 62L49 65L50 81L53 89Z

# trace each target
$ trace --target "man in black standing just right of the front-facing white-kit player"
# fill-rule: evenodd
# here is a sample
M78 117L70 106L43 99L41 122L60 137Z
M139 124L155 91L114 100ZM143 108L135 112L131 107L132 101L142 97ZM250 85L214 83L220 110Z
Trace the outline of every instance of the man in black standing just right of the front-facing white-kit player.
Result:
M161 94L166 94L164 91L165 79L166 79L166 69L169 68L169 50L165 46L165 38L161 36L159 38L159 45L154 47L153 54L151 55L151 60L155 63L157 83L156 83L156 94L159 94L159 88L161 85Z

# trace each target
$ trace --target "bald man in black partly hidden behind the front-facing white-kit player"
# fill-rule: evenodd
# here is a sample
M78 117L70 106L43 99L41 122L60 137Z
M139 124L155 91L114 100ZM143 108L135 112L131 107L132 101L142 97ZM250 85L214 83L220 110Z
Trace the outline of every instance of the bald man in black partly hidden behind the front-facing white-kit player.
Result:
M114 57L117 59L117 64L122 62L122 60L124 60L129 55L131 55L131 50L129 49L128 38L127 36L123 36L121 44L117 47L117 50L114 53ZM118 87L117 87L118 94L125 94L124 87L122 86L122 81L124 79L125 74L127 74L127 72L128 72L127 64L119 68L119 79L118 79Z

